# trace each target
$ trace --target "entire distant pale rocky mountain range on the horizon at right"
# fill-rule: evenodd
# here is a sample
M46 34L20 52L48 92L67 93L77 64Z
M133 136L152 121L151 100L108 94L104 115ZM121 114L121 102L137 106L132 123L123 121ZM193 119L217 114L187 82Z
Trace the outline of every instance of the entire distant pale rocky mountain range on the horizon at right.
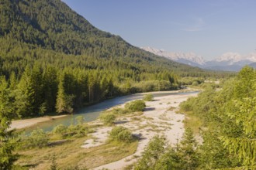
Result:
M195 53L166 52L151 47L142 47L141 49L158 56L164 56L178 63L198 66L208 70L239 71L245 65L256 68L256 53L250 53L247 56L242 56L239 53L224 53L216 59L206 61L202 56L198 56Z

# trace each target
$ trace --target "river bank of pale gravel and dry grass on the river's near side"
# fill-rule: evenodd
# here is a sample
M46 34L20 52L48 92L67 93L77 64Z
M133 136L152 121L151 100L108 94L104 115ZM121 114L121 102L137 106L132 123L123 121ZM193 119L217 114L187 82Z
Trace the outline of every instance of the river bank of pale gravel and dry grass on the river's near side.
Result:
M17 164L30 165L33 169L43 170L50 168L51 158L56 155L57 165L60 168L72 165L88 169L123 169L137 162L150 139L156 134L164 135L172 145L175 145L182 138L185 120L185 115L178 113L178 105L189 97L196 96L197 93L180 93L180 91L179 93L177 91L161 93L165 93L164 96L154 97L153 101L146 102L143 112L123 114L116 118L115 126L129 128L134 135L140 137L139 141L131 144L109 142L109 131L115 126L105 126L99 119L96 119L85 124L91 132L81 138L72 138L71 141L61 145L19 151L19 154L23 156ZM139 97L143 96L140 94ZM137 97L132 99L137 100ZM125 103L115 105L115 107L123 107ZM110 107L109 110L112 108L114 107ZM70 117L63 118L69 119ZM51 135L52 141L56 141L58 138L56 135L59 134Z

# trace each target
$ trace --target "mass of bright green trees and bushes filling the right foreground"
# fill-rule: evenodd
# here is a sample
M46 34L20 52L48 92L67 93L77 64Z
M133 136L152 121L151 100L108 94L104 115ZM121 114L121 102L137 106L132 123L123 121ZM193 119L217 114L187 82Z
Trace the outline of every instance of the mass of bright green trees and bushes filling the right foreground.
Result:
M256 70L245 66L221 89L209 86L184 101L182 141L173 146L155 136L134 169L256 169L255 81Z

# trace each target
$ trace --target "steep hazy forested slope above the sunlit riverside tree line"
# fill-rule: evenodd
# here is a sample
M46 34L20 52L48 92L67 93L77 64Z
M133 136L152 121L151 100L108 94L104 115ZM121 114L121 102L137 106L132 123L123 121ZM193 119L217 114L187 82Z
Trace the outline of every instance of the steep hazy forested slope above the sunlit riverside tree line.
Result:
M125 65L133 63L133 67L136 67L134 69L140 71L145 70L136 66L137 63L150 64L150 69L151 65L154 65L154 70L150 70L153 72L159 70L202 72L197 68L146 53L131 46L119 36L96 29L60 0L3 0L0 9L2 51L9 51L17 46L22 46L24 49L24 46L28 46L29 49L47 49L54 53L90 56L94 59L121 59L120 62L126 63ZM13 46L14 43L19 45ZM5 47L6 44L9 46ZM5 56L5 53L2 56ZM19 57L24 56L19 53Z

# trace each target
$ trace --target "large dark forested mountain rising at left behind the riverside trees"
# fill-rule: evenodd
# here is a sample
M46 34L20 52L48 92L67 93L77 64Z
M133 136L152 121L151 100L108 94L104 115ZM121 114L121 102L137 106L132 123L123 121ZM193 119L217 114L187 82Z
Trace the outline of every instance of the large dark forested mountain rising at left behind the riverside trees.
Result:
M36 60L46 64L56 62L53 56L45 53L54 53L59 56L57 59L72 58L73 65L80 63L78 66L91 69L126 68L137 73L204 72L147 53L120 36L95 28L61 0L2 0L0 10L0 68L6 75L11 71L22 73L25 63ZM41 52L32 53L32 50ZM16 66L12 66L13 63ZM58 63L58 66L64 67L64 63Z

